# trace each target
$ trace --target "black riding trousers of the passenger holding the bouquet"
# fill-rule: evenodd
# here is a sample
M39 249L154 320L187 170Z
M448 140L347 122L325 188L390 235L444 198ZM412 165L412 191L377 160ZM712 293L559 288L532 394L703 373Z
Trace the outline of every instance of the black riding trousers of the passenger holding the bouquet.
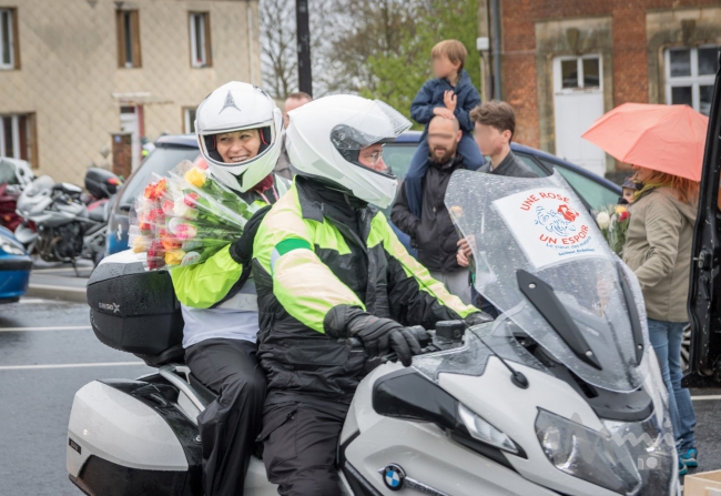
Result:
M217 394L197 416L205 496L243 494L265 398L265 374L255 353L254 343L221 338L185 350L193 375Z

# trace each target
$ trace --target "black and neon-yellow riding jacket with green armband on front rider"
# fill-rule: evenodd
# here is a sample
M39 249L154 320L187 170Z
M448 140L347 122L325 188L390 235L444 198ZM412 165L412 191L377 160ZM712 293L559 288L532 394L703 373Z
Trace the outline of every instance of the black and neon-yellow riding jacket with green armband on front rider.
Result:
M366 366L344 340L358 303L426 328L474 312L427 275L375 207L303 176L263 219L254 256L266 405L351 403Z

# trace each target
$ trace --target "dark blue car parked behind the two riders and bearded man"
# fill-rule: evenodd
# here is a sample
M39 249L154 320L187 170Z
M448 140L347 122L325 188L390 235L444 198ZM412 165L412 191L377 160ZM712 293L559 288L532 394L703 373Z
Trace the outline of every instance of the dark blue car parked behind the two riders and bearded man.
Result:
M420 141L419 131L407 131L400 134L395 143L388 143L383 149L383 158L393 173L400 180L406 176L410 158L416 152ZM141 166L129 178L118 200L112 207L108 226L108 254L128 249L128 214L135 198L150 181L152 173L164 174L173 169L181 160L193 161L199 155L197 142L193 134L162 136L155 142L156 149L145 159ZM616 204L621 195L621 188L599 175L573 165L549 153L529 146L512 143L511 150L538 175L546 176L557 169L576 190L589 210L600 210ZM390 207L385 210L390 217ZM395 230L400 242L412 254L409 237Z

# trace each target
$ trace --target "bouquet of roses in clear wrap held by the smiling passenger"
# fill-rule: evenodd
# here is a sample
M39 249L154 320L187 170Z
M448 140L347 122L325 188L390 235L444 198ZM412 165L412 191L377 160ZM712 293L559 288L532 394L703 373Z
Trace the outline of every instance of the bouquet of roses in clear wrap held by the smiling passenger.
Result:
M129 241L150 271L202 263L243 233L258 210L209 175L207 165L183 161L138 198Z

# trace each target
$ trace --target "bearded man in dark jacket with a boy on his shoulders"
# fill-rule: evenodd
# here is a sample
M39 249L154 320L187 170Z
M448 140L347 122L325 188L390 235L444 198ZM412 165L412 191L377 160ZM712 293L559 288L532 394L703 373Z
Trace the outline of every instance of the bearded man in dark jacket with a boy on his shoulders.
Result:
M444 203L450 175L467 169L457 146L461 131L456 119L434 118L428 124L428 171L422 183L420 215L408 204L405 188L393 206L390 219L412 244L418 247L418 262L425 265L431 277L443 282L451 294L464 303L470 302L468 271L456 261L458 234Z

